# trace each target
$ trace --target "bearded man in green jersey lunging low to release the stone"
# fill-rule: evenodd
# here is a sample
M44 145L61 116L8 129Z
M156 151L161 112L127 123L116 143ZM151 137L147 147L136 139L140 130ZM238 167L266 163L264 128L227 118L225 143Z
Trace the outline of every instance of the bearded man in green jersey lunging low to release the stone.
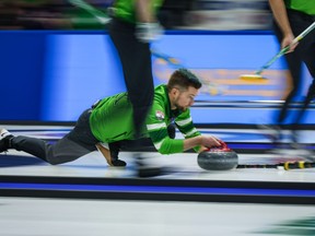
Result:
M189 107L200 87L198 78L186 69L175 71L167 85L156 86L141 138L149 138L162 154L182 153L189 149L201 152L207 148L220 146L217 138L201 135L194 127ZM173 121L185 139L172 139L168 135L167 127ZM108 143L128 143L133 139L132 104L127 93L119 93L103 98L84 110L74 128L56 144L31 137L14 137L1 129L0 153L15 149L56 165L98 150L110 166L125 166L126 163L118 158L118 153L110 156Z

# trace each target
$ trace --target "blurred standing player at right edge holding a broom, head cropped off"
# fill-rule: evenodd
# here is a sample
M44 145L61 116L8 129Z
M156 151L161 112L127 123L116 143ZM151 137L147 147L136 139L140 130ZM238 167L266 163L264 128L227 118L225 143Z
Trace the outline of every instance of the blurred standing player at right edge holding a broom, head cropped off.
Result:
M291 45L294 37L300 35L315 21L314 0L269 0L269 4L275 17L275 34L282 48ZM285 59L292 75L292 90L288 94L276 120L276 123L278 125L278 128L276 129L276 131L278 131L275 135L276 143L280 142L281 139L281 126L288 121L287 118L289 118L290 104L301 90L301 62L306 64L311 75L313 76L313 82L308 87L302 108L296 114L296 117L294 117L291 127L292 148L294 148L299 142L294 130L298 130L298 126L315 95L315 31L308 33L308 35L299 43L299 45L291 45L289 54L285 54Z

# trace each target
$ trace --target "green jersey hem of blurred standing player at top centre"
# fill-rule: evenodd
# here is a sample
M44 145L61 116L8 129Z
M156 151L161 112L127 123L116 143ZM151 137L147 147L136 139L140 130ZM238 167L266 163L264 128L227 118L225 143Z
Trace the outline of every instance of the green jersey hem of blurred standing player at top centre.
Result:
M156 11L162 7L164 0L152 0L152 8ZM115 8L115 16L129 22L129 23L136 23L136 7L135 7L135 0L116 0L114 2Z

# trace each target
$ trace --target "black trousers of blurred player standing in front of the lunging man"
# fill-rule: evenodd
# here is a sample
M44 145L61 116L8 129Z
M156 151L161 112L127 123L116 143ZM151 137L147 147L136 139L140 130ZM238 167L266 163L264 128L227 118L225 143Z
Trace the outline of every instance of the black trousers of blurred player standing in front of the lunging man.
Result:
M135 35L133 24L115 17L108 31L120 58L128 96L133 107L137 139L140 137L154 96L150 45L139 42Z

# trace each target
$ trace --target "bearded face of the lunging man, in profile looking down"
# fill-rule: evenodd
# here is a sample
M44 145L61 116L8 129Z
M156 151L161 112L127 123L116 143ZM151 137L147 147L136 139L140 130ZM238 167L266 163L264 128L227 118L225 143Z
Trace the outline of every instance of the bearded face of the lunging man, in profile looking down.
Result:
M180 111L185 111L187 108L192 106L195 103L195 97L198 94L198 90L189 86L188 90L179 90L179 88L174 88L176 90L174 92L174 99L173 99L173 108L177 108Z

